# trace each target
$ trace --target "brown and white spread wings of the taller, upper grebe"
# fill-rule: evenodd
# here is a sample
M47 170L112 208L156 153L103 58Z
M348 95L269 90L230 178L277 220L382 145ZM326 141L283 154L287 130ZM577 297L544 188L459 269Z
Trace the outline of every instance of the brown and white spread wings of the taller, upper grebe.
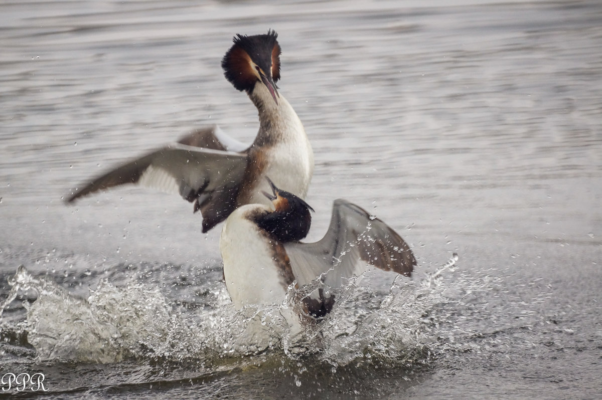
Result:
M193 132L163 149L119 165L84 183L67 197L71 203L87 194L137 183L179 194L194 202L203 215L203 232L216 226L234 210L247 167L244 145L226 137L217 126Z

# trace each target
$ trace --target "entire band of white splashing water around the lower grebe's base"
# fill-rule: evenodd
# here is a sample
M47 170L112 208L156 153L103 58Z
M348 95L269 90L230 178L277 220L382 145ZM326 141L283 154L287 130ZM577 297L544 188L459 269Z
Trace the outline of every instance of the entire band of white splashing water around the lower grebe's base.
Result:
M455 255L437 269L437 277L444 270L452 271L456 260ZM337 293L333 312L320 324L307 327L301 341L291 337L282 317L291 297L282 304L245 307L237 312L220 283L215 304L191 313L169 304L160 289L147 283L128 282L117 287L101 280L87 298L80 298L50 278L34 277L23 266L9 279L12 288L0 308L0 317L19 292L37 293L35 301L23 302L23 329L40 359L210 362L258 354L266 348L248 345L246 334L252 321L259 318L272 335L267 348L284 351L291 360L315 354L333 366L371 358L411 365L426 360L443 334L432 331L435 323L424 318L433 307L450 301L441 290L445 285L433 283L432 276L427 275L423 285L396 278L388 294L380 297L352 280Z

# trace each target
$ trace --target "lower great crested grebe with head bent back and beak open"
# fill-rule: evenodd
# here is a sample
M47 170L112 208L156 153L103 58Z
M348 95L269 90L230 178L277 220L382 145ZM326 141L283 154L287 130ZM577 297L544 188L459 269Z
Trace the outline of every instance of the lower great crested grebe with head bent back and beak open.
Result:
M291 332L299 332L305 322L332 310L337 299L330 289L362 274L366 264L412 274L416 259L401 236L346 200L335 200L330 226L320 241L300 242L309 231L312 208L267 180L272 190L264 195L272 206L237 208L220 236L226 288L236 309L282 304L291 289L318 283L309 295L281 310ZM270 334L260 324L252 330L256 342Z

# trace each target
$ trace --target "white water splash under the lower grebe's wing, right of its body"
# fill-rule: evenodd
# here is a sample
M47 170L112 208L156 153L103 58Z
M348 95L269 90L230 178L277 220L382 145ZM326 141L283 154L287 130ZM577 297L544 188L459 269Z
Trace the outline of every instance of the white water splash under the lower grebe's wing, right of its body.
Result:
M439 286L445 271L456 270L458 260L458 254L454 253L435 272L426 274L420 285L396 275L382 300L374 296L371 288L359 285L362 276L350 278L343 288L330 289L337 299L335 307L321 324L305 331L306 342L311 343L313 349L320 346L320 359L334 366L346 366L367 358L397 366L426 362L438 335L425 328L432 321L427 321L424 315L450 302ZM318 277L295 295L305 297L320 283ZM290 345L284 343L285 352ZM294 346L298 347L299 343ZM296 352L287 354L294 356Z

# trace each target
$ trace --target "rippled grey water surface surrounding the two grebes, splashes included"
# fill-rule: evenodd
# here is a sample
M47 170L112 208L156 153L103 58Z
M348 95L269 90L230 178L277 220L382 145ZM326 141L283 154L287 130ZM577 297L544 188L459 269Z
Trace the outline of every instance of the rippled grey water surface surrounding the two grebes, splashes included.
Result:
M2 375L55 398L597 398L602 4L451 4L2 2ZM251 141L220 60L268 28L314 147L311 238L345 197L420 268L347 288L319 352L242 356L219 227L140 188L62 197L198 126Z

